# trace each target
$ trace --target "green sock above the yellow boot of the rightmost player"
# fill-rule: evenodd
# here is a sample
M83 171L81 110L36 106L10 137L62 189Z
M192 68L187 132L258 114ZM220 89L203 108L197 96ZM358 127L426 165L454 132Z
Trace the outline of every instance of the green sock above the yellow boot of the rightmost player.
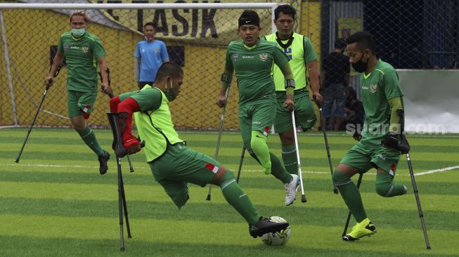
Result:
M340 171L333 172L333 182L340 190L341 197L344 199L347 208L352 213L356 221L360 223L366 219L365 209L363 209L362 198L356 184L352 182L351 177L341 173Z

